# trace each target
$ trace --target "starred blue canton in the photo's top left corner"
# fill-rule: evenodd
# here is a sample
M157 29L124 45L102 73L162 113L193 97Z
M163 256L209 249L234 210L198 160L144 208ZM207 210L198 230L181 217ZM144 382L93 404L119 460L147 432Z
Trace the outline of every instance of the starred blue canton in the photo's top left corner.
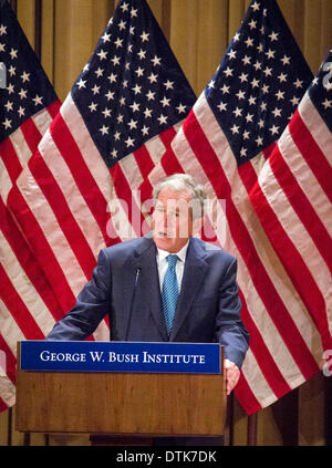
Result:
M0 9L0 141L58 97L8 1Z

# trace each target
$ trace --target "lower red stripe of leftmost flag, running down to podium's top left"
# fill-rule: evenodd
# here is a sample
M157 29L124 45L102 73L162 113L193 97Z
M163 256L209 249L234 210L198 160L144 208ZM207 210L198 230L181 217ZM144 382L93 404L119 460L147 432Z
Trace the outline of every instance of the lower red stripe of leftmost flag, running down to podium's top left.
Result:
M4 268L0 264L1 300L9 311L14 311L14 321L21 329L23 335L29 340L43 340L44 334L34 321L24 302L18 294ZM6 291L6 293L4 293Z

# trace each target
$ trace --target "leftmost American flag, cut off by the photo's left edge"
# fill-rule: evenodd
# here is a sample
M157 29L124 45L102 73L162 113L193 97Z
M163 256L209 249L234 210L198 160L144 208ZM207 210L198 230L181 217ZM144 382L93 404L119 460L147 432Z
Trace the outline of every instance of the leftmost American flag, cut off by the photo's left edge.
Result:
M0 410L14 403L17 342L42 339L63 314L8 209L60 102L9 3L0 9Z

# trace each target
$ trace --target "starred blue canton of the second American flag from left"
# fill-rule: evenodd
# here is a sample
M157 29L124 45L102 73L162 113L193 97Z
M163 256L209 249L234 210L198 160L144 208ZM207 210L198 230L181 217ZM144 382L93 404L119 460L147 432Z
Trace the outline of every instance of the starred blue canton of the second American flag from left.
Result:
M185 118L196 101L142 0L118 3L72 96L108 167Z

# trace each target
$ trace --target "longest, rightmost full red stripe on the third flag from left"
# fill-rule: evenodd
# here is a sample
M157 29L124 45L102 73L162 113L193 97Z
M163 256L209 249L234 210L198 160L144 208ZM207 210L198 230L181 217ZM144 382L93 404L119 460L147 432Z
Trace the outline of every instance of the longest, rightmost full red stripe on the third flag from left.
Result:
M317 372L318 365L257 253L246 225L230 198L231 187L229 181L194 113L189 114L187 122L188 126L190 122L189 131L188 126L184 129L188 143L211 183L217 198L227 200L227 219L230 232L247 264L256 290L299 368L309 378L313 372Z

